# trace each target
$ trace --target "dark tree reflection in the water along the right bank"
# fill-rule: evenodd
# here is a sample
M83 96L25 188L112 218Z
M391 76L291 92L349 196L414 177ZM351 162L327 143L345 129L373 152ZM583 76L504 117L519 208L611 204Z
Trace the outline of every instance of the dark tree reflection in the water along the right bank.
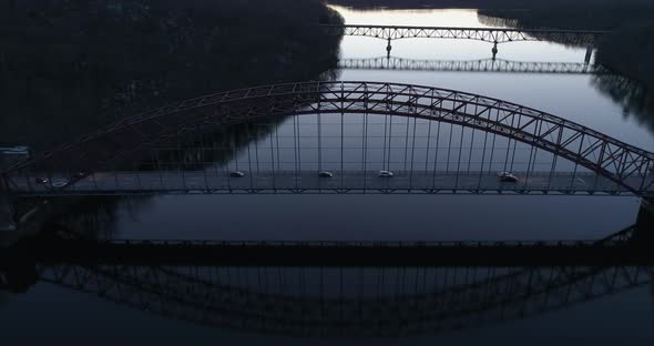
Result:
M644 83L619 74L594 75L592 83L620 104L623 114L633 114L654 133L654 92Z

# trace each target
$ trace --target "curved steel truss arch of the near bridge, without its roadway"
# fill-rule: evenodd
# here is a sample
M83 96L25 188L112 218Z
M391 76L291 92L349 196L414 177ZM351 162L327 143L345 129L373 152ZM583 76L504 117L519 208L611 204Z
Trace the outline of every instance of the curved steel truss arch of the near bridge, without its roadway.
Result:
M654 193L653 153L581 124L467 92L358 81L255 86L152 110L10 167L3 172L3 189L19 194L43 193L29 183L34 174L85 172L65 186L47 191L65 194L88 173L110 170L116 161L133 157L163 140L207 131L211 126L302 114L382 114L456 124L543 150L554 156L554 163L563 157L575 167L585 167L616 184L622 192L645 197Z

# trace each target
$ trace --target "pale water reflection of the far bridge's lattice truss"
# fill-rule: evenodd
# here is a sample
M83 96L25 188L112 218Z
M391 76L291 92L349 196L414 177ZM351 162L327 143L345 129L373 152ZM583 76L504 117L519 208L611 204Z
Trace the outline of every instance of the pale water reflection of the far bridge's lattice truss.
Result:
M582 62L532 62L503 59L479 60L416 60L397 57L367 59L341 59L341 69L362 70L408 70L452 72L510 72L510 73L562 73L562 74L609 74L601 65Z

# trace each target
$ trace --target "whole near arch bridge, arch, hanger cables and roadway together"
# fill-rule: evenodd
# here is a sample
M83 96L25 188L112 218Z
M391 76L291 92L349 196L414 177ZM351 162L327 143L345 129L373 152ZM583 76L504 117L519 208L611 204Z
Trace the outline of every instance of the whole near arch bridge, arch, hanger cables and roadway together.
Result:
M648 197L653 167L654 154L647 151L501 100L407 84L308 82L229 91L134 116L10 169L3 189L17 195L511 192ZM380 177L381 170L395 176ZM334 176L319 177L320 171ZM514 173L518 182L500 182L497 174L503 171ZM234 177L234 172L244 176ZM43 177L50 182L35 183Z

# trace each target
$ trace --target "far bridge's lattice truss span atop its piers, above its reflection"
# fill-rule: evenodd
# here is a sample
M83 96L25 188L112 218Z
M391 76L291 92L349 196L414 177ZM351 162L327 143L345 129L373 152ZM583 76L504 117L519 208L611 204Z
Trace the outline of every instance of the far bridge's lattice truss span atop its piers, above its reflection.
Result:
M344 35L370 37L384 40L409 38L477 40L491 43L515 41L556 41L594 44L606 31L513 28L453 28L453 27L396 27L396 26L321 26Z

